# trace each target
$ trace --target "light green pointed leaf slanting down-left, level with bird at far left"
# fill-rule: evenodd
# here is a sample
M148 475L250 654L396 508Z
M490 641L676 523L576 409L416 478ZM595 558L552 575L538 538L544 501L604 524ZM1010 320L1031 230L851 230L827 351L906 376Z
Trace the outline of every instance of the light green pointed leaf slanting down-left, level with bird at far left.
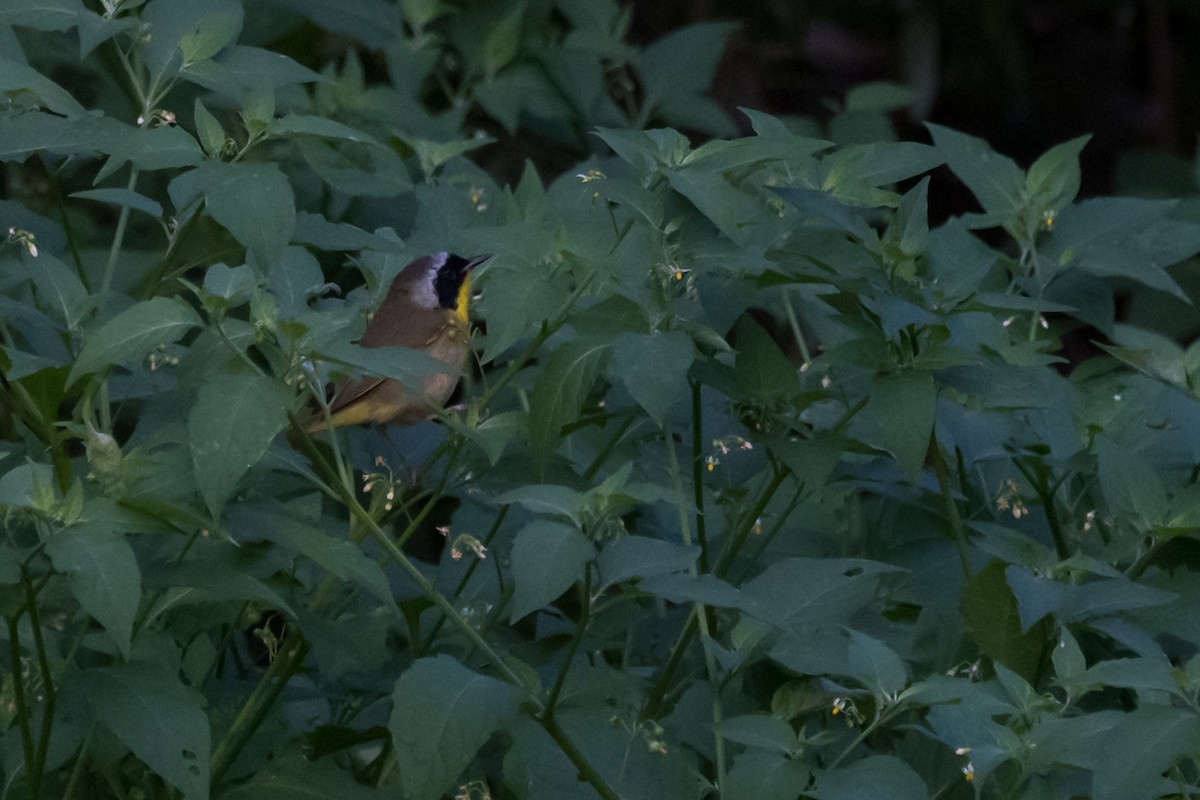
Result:
M84 342L67 385L112 365L142 361L161 344L173 344L200 318L179 297L151 297L113 317Z

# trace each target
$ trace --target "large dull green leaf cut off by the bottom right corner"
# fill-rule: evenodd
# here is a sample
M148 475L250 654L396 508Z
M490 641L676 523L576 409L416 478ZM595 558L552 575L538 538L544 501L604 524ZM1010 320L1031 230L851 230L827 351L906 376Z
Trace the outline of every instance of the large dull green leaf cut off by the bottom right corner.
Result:
M1105 736L1092 775L1096 800L1151 800L1174 793L1162 777L1180 758L1200 750L1200 716L1190 709L1145 705Z

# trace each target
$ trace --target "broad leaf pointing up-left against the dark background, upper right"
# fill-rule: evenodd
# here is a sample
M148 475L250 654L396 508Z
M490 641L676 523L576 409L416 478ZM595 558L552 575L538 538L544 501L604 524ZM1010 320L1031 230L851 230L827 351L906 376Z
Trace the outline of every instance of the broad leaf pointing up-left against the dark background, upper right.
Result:
M950 172L966 184L992 221L1015 227L1025 205L1025 173L1020 167L983 139L932 122L925 127Z

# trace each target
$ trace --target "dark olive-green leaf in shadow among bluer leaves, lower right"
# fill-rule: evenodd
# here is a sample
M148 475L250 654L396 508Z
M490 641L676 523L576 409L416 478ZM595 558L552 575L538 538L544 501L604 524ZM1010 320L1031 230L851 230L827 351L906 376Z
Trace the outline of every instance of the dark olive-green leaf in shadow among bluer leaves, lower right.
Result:
M1004 577L1002 561L994 559L971 576L962 591L960 610L979 649L1026 680L1037 674L1054 646L1049 616L1030 626L1021 625L1016 597Z

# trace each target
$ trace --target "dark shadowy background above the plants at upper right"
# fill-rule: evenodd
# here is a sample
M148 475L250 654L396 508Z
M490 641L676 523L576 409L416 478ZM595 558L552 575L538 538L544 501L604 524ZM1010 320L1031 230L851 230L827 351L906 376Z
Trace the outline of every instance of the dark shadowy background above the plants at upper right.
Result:
M1093 133L1082 194L1196 190L1200 0L636 0L631 37L712 19L738 23L712 94L739 125L738 106L822 116L890 80L919 97L904 138L928 140L928 119L1027 167Z

